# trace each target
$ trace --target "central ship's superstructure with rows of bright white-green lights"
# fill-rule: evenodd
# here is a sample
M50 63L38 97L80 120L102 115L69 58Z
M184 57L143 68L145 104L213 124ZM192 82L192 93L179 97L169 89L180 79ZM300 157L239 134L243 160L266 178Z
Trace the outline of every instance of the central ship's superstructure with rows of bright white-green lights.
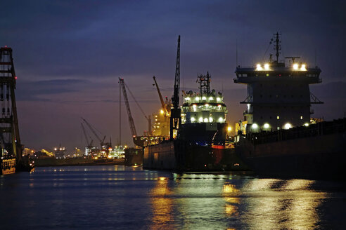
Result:
M200 92L184 93L179 138L199 145L224 145L226 140L226 104L222 93L210 90L211 76L198 74Z

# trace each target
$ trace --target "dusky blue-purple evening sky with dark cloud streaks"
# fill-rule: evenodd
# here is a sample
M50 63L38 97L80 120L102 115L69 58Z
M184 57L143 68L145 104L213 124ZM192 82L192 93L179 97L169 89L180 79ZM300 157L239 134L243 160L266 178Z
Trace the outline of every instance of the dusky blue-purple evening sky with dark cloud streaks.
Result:
M172 97L181 35L181 89L198 90L198 73L212 74L224 93L229 123L242 119L246 87L233 83L238 64L255 65L275 32L281 58L318 65L323 83L311 86L326 120L346 112L345 1L1 1L0 45L13 48L16 97L25 147L73 151L84 147L80 117L119 140L118 78L146 114L160 109L153 86ZM147 129L129 96L137 133ZM132 144L122 107L123 144ZM94 140L96 142L96 140Z

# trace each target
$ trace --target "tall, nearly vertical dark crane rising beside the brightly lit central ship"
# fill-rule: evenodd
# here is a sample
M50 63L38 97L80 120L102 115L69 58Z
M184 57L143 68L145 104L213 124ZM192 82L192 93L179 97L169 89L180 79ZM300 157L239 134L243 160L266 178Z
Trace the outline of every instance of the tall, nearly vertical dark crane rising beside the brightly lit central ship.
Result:
M169 124L169 137L173 139L173 131L181 127L181 109L179 107L180 88L180 35L178 36L177 63L175 67L174 94L172 96L173 107Z

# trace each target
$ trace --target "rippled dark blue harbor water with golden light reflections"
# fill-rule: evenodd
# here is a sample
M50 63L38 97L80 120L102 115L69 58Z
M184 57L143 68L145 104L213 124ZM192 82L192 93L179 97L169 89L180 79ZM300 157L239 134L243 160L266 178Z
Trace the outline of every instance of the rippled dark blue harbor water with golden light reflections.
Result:
M0 177L0 229L344 229L344 182L124 165Z

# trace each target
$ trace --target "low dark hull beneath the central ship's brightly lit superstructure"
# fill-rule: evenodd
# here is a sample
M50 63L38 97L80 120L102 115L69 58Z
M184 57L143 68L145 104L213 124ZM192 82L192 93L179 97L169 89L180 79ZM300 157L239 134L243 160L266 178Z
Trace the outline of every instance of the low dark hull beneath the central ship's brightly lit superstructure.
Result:
M234 149L172 140L144 148L143 168L178 171L248 170Z

